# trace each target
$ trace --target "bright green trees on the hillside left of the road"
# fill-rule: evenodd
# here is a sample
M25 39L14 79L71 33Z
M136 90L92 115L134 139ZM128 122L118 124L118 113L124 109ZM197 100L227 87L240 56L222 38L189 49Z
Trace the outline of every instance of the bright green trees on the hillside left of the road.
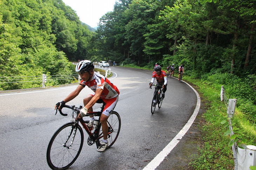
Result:
M68 59L86 58L92 33L62 1L3 0L0 3L0 77L8 79L5 82L13 82L15 76L23 77L21 83L1 82L0 90L41 86L40 82L31 82L26 77L43 73L70 75L73 70ZM56 80L52 84L68 82Z

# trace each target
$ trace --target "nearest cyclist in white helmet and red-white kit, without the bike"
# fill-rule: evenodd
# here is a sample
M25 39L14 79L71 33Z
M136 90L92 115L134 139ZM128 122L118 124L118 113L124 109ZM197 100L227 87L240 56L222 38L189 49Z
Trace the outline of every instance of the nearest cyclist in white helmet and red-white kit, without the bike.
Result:
M108 146L107 119L116 106L119 96L119 90L106 77L100 75L97 72L94 72L93 69L94 65L89 60L81 61L76 65L75 71L79 73L82 80L73 92L71 92L63 101L59 102L60 106L58 109L61 110L63 106L66 104L66 102L78 96L78 94L85 86L91 88L93 93L87 95L87 97L83 99L83 104L85 105L85 107L83 107L80 110L78 118L85 116L87 112L93 112L92 107L99 99L103 100L106 103L103 112L100 116L103 140L101 142L100 147L97 148L98 152L103 152ZM56 109L57 104L55 105L54 109ZM94 116L90 117L90 122L93 121Z

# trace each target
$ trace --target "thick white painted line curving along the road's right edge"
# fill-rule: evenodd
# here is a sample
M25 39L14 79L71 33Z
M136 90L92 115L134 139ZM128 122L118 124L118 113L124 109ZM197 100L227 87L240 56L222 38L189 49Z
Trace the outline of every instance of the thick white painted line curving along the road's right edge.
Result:
M189 85L188 83L186 84ZM178 144L178 142L180 142L182 137L187 133L188 129L190 128L192 123L195 121L196 116L200 109L201 99L197 91L192 86L190 86L190 88L194 90L197 97L197 103L196 103L196 108L194 110L194 113L191 115L190 119L188 120L186 125L181 129L181 131L173 138L173 140L171 140L170 143L158 155L156 155L156 157L151 162L149 162L146 167L143 168L143 170L156 169L160 165L160 163L164 160L164 158L171 152L171 150L173 150L173 148Z

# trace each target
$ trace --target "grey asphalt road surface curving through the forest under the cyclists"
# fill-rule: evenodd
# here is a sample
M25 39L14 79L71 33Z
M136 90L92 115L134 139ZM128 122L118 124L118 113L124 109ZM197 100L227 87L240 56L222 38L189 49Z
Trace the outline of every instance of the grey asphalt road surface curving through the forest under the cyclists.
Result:
M188 84L179 83L171 77L168 78L162 107L156 107L155 113L151 114L154 89L149 88L149 82L152 71L122 67L111 69L113 76L109 79L120 90L115 107L121 116L119 137L111 148L99 153L96 145L87 145L88 135L85 133L82 151L70 170L150 169L145 167L182 131L197 106L195 91ZM77 86L0 93L0 169L50 169L46 161L48 142L61 125L71 120L70 112L66 117L54 115L54 105ZM82 105L83 97L91 92L86 87L67 104ZM94 111L100 110L100 106L95 104ZM181 138L176 141L183 140ZM168 157L175 156L171 154L175 153L168 153ZM171 166L160 161L157 169L171 169Z

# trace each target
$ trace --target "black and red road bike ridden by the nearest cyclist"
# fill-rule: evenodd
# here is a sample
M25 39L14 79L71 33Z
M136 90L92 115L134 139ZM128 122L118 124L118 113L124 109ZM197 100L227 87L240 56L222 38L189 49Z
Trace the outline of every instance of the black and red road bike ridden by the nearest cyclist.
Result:
M97 103L102 103L101 111L100 112L87 112L86 116L100 116L102 114L102 111L106 105L103 101L97 101ZM57 108L59 106L57 105ZM82 146L83 146L83 130L81 126L79 125L79 122L83 126L83 128L88 133L88 139L87 144L92 145L96 143L97 148L100 147L100 142L103 140L103 132L102 132L102 126L99 122L99 125L95 128L93 133L89 129L89 127L86 125L86 123L89 123L89 120L83 120L77 119L78 114L80 113L80 107L75 107L75 105L68 106L64 105L66 108L72 109L72 120L69 123L64 124L61 126L52 136L52 139L50 139L50 142L48 144L46 158L47 163L49 167L53 170L64 170L70 167L78 158ZM64 108L63 107L63 108ZM56 108L56 113L57 109ZM60 114L63 116L67 116L67 114L62 113L61 110L59 110ZM55 115L56 115L55 113ZM116 141L120 128L121 128L121 119L117 112L113 111L108 120L108 146L106 149L111 147L114 142Z

